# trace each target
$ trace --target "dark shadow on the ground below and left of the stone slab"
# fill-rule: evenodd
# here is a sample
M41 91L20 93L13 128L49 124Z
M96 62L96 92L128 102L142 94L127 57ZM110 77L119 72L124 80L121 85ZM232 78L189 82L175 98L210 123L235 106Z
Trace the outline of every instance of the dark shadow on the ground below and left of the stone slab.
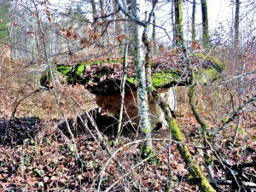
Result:
M102 113L98 108L91 110L89 114L102 134L108 137L116 136L118 119L108 115L108 113ZM79 135L88 135L90 137L88 129L96 136L95 125L90 122L85 113L80 114L75 119L67 119L67 122L65 119L51 119L49 121L57 125L57 128L69 138L70 133L67 129L67 123L75 137ZM49 121L38 119L37 117L13 118L9 120L0 118L0 145L20 145L26 139L34 139L39 131L47 129L47 125L44 123ZM136 131L136 125L123 122L122 136L133 137Z

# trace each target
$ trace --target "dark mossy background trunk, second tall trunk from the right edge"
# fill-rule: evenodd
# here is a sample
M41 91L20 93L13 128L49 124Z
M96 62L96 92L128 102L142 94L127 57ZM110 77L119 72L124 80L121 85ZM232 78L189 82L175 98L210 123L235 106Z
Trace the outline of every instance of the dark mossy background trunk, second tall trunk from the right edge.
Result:
M202 29L203 29L202 40L203 40L203 44L207 46L209 44L207 0L201 0L201 20L202 20Z

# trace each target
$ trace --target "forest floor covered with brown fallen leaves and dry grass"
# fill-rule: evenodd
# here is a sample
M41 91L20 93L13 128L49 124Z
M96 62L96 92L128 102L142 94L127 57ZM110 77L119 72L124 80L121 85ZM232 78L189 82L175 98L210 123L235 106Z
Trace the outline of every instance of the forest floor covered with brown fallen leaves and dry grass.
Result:
M142 140L137 131L126 130L114 141L113 126L108 126L113 123L111 121L108 125L99 127L104 131L103 146L98 145L90 134L90 130L93 131L91 127L73 127L77 147L75 150L67 127L60 125L61 113L66 113L69 119L76 119L83 110L69 96L76 98L88 111L96 108L94 96L81 86L63 86L60 88L63 95L59 108L55 105L52 92L33 93L38 90L38 85L34 83L34 78L27 74L25 76L20 74L24 80L15 80L12 76L0 79L3 109L0 113L0 191L164 191L168 166L172 170L172 191L199 191L189 179L188 170L177 152L177 143L172 142L170 145L169 133L165 128L153 132L154 157L146 161L140 157ZM207 176L201 149L203 138L200 125L189 108L187 91L183 89L177 93L177 123L186 137L193 160L199 163L201 171ZM198 94L200 98L204 95L202 92ZM224 102L225 94L219 96L219 101ZM202 103L201 99L198 101L198 110L207 122L211 134L228 117L224 110L228 102L223 108L216 109L211 102ZM16 117L15 125L4 117ZM30 121L32 117L39 118ZM241 117L243 120L235 146L232 145L232 137L236 121L215 139L215 147L230 164L252 162L256 159L256 112L247 110L241 113ZM96 123L104 120L102 118L96 119ZM25 124L22 124L22 119L26 121ZM216 122L212 119L216 119ZM6 137L4 134L7 122L9 134ZM111 129L106 131L107 127ZM168 148L171 151L169 163ZM76 160L76 153L79 154L79 162ZM210 154L213 155L212 152ZM212 170L215 180L230 179L218 164L214 164ZM255 167L247 168L246 172L254 177L256 175ZM220 188L222 191L231 191L230 186L221 185Z

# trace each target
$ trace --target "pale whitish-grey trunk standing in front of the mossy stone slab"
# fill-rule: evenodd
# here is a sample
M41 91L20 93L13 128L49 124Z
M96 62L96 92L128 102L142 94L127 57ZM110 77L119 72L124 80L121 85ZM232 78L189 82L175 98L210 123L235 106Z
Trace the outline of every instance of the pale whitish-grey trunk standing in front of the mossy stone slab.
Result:
M131 0L132 15L140 20L140 10L142 9L141 1ZM151 140L151 125L149 121L149 108L148 108L148 93L145 77L145 66L143 63L143 42L142 42L142 27L133 21L133 49L134 49L134 62L137 74L137 105L140 116L140 126L143 133L145 142L143 143L142 157L147 157L152 154L152 140Z

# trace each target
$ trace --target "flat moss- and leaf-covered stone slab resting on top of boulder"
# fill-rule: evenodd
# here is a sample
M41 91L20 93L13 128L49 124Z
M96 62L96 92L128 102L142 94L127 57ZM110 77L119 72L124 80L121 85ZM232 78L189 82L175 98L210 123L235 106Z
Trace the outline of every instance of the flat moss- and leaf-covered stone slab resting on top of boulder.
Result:
M67 84L83 84L86 89L96 95L113 95L119 93L119 84L123 75L123 60L108 59L99 61L81 61L75 65L58 65L55 73L66 78ZM174 65L174 64L175 65ZM224 71L224 63L216 57L193 55L188 61L183 59L172 61L154 60L152 64L152 84L155 88L168 88L174 84L189 85L189 67L193 67L200 84L212 83L219 79ZM42 74L40 83L48 86L51 81L49 68ZM125 90L137 90L135 66L131 58L128 60Z

